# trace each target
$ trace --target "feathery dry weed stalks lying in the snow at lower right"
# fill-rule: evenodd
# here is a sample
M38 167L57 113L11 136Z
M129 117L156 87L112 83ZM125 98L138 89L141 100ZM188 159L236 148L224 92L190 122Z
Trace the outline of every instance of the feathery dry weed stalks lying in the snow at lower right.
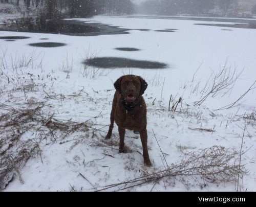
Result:
M159 170L151 174L127 180L112 185L104 186L103 190L121 191L144 185L148 182L156 182L163 178L178 179L189 185L188 178L193 178L201 186L203 180L207 182L237 182L238 175L246 174L244 166L239 164L239 153L222 146L213 146L200 151L187 152L181 162L168 166L168 169ZM195 185L195 183L194 183Z

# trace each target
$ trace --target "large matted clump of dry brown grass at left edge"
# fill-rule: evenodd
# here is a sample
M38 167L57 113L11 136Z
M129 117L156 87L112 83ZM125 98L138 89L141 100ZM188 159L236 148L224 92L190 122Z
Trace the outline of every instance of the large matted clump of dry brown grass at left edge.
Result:
M40 156L42 140L62 144L75 132L83 132L85 136L89 133L89 124L54 119L54 114L44 113L47 107L45 102L28 102L15 108L0 105L7 111L0 116L0 190L5 189L15 174L22 181L19 171L30 157Z

